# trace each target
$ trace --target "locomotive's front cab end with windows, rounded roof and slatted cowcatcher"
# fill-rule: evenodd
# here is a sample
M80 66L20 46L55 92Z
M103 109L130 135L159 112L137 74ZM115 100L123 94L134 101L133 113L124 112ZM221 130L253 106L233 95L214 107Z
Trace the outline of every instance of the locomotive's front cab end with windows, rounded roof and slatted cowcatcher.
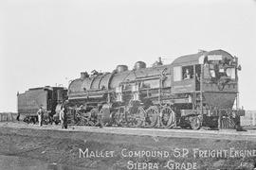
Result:
M241 67L237 58L223 50L214 50L180 57L172 65L172 93L179 98L182 95L192 98L175 104L181 117L198 115L201 124L210 125L203 121L206 117L205 120L214 122L213 127L219 128L240 125L244 111L238 111L237 71ZM232 110L235 103L236 110Z

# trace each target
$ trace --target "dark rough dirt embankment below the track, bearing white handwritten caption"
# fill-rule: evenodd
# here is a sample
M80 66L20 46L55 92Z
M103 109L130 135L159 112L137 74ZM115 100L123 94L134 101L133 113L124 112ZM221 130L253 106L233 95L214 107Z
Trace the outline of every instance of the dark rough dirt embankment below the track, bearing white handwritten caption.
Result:
M86 149L89 155L86 158L85 154L84 158L82 152L85 153ZM169 155L154 156L154 151L163 155L168 152ZM113 153L113 157L109 153ZM139 136L2 126L0 155L68 164L84 169L233 170L253 169L256 143L246 139Z

